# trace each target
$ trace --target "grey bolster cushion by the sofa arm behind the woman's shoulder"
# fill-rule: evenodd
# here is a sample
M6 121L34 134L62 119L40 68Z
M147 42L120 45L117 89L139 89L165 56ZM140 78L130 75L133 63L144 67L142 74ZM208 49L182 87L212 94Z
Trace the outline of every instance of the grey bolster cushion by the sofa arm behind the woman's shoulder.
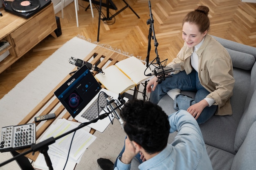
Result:
M240 51L234 51L231 49L227 49L227 51L231 57L233 67L241 68L244 70L252 70L252 66L255 63L255 58L253 55L242 53Z

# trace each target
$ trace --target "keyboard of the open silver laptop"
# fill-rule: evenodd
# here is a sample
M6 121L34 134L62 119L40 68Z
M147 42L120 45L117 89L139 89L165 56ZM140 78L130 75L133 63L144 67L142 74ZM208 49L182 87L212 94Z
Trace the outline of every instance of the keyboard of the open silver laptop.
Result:
M92 104L92 106L81 115L81 117L84 117L85 119L88 119L91 121L92 119L95 119L98 117L98 113L101 113L103 108L107 106L106 97L103 95L103 93L100 93L99 95L99 112L98 112L98 99L95 100L95 102Z

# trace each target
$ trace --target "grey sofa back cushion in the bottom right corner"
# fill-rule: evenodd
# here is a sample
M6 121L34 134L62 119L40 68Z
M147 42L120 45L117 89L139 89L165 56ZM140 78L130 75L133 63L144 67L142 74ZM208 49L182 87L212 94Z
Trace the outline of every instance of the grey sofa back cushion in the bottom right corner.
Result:
M231 170L256 170L256 122L250 127L248 134L233 159Z

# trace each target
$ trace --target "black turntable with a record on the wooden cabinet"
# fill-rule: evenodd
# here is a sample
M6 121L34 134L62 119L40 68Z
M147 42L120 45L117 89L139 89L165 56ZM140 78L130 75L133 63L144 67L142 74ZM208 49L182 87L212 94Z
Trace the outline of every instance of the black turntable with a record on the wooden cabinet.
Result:
M4 1L5 11L23 18L29 18L42 10L51 0L14 0Z

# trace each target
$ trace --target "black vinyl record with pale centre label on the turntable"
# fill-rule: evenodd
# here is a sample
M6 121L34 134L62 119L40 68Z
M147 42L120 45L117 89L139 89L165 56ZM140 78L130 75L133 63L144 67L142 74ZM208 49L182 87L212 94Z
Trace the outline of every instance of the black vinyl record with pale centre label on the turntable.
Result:
M40 7L39 0L14 0L11 2L11 8L16 12L31 12Z

